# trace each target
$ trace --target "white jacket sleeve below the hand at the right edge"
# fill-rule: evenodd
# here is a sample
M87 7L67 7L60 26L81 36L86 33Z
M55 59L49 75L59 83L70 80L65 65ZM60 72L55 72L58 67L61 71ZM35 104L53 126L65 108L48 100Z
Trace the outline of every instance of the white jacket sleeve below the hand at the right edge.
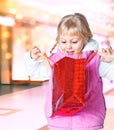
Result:
M110 63L100 62L99 74L102 78L114 81L114 61Z

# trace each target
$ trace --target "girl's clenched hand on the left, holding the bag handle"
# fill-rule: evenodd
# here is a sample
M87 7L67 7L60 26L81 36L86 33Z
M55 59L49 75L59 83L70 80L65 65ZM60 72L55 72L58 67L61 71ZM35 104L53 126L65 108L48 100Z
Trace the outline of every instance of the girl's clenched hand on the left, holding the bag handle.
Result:
M40 49L37 46L34 46L34 47L31 48L31 50L30 50L30 57L32 59L38 59L38 58L41 57L41 55L42 55L41 51L40 51Z

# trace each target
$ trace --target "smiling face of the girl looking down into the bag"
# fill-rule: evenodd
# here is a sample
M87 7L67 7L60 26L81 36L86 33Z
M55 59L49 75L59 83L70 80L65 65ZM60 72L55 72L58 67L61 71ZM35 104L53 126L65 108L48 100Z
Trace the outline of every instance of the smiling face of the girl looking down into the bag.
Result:
M79 36L62 35L58 45L65 54L80 54L84 47L84 42Z

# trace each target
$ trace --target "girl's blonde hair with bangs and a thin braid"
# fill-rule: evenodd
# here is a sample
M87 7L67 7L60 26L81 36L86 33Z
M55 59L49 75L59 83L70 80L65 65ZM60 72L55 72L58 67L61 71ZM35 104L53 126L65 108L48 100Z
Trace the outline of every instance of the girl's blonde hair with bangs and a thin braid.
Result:
M53 46L51 52L59 42L60 35L79 35L86 44L90 38L92 38L92 32L90 30L88 21L83 14L75 13L64 16L57 27L56 44Z

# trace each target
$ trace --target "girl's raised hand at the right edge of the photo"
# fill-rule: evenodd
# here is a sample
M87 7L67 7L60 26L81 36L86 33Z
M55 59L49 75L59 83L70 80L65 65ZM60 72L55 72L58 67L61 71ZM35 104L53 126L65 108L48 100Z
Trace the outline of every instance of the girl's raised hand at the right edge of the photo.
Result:
M102 48L101 52L97 52L101 56L101 61L111 62L114 60L114 50L111 46L106 49Z

